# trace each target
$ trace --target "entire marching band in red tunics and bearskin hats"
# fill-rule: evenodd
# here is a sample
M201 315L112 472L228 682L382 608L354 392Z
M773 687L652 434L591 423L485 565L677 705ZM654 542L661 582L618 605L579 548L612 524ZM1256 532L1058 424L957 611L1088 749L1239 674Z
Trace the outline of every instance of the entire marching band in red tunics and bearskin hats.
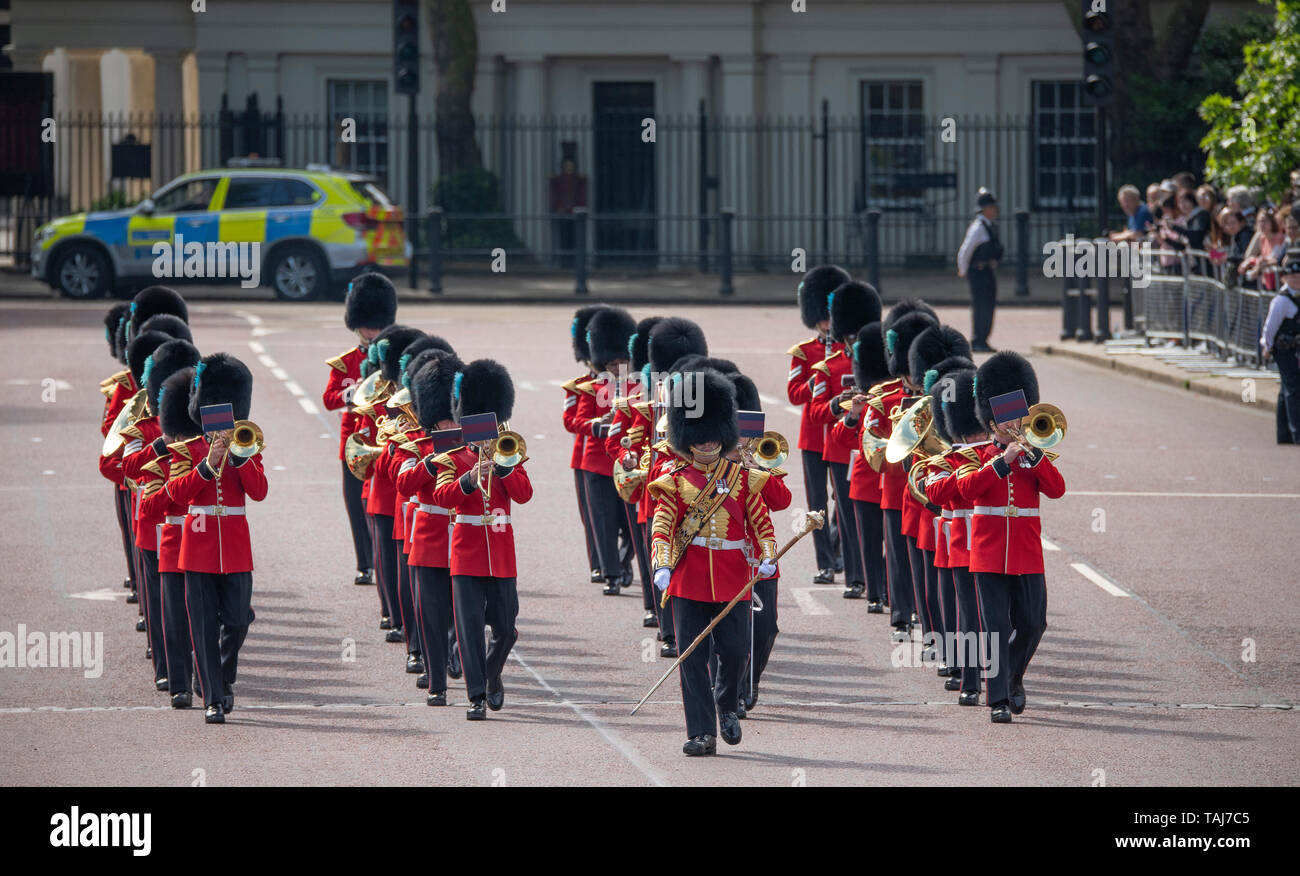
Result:
M1040 402L1028 361L1004 351L976 367L923 302L885 313L835 265L807 272L797 296L816 331L790 347L786 376L812 582L842 573L846 599L888 611L896 643L919 636L959 704L983 697L1009 723L1046 626L1040 498L1065 493L1052 451L1065 416ZM343 322L356 344L326 361L354 581L376 587L380 628L406 646L426 703L446 706L463 677L480 721L504 706L519 637L511 511L533 483L510 428L515 385L396 309L387 278L355 278ZM125 369L101 383L100 472L155 686L174 708L198 694L220 724L255 619L246 508L268 494L265 442L248 420L251 372L200 355L187 318L160 286L107 315ZM741 741L779 633L777 560L798 537L779 545L772 512L793 503L790 446L766 428L758 382L710 357L692 320L602 304L580 308L571 334L581 374L563 383L562 421L590 582L619 595L638 577L641 625L680 678L682 751L715 754L719 736Z

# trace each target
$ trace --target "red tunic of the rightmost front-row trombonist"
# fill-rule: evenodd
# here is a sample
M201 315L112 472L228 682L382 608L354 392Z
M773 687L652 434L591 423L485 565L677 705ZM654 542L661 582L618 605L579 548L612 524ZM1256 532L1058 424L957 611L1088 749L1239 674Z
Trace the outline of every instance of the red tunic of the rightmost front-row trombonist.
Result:
M1037 461L1020 454L1008 465L996 443L979 451L982 464L971 463L957 477L958 493L974 507L968 530L971 572L1039 574L1043 572L1039 494L1060 499L1065 495L1065 478L1045 454L1035 454Z

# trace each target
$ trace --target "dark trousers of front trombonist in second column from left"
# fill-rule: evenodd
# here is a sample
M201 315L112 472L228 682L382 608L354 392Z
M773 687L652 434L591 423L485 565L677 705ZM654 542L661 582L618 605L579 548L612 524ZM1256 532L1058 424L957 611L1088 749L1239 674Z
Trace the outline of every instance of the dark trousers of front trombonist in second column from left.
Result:
M519 641L519 630L515 629L519 591L515 578L454 574L451 598L465 693L471 701L481 699L500 685L506 659ZM491 642L485 645L484 632L489 626Z

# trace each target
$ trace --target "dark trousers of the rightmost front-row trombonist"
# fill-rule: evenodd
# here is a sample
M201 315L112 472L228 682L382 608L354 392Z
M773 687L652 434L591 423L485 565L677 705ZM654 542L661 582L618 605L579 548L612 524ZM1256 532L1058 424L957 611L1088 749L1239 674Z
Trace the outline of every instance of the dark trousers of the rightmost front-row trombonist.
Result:
M997 706L1024 681L1048 628L1048 585L1041 574L976 572L980 617L988 632L988 704ZM1011 630L1015 641L1010 642Z

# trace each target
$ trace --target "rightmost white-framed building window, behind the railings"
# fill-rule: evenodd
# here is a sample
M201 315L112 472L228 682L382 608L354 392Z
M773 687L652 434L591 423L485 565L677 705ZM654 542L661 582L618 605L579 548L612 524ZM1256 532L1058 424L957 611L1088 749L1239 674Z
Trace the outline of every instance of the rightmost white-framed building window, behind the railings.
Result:
M1035 82L1034 203L1075 209L1097 203L1097 131L1079 82Z

